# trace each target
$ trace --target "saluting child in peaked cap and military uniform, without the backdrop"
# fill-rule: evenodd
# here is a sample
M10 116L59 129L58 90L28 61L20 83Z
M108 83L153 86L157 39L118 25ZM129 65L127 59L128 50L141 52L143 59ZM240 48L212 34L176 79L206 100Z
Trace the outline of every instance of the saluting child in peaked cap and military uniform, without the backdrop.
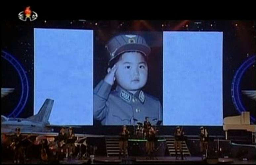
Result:
M162 120L160 101L142 91L148 80L150 48L139 35L118 35L106 45L110 54L107 75L94 88L94 118L102 125L133 125ZM111 91L114 82L115 90Z

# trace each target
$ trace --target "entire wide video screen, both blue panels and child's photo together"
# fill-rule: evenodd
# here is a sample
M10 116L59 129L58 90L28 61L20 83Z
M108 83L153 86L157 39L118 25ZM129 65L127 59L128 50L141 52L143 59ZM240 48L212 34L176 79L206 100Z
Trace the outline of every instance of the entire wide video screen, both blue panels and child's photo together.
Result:
M35 28L34 114L51 98L57 125L222 125L222 36Z

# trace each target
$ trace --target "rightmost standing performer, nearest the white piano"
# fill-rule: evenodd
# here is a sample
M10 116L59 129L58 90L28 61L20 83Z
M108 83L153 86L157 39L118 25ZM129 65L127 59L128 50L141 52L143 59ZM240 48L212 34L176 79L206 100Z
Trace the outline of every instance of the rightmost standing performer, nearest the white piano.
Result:
M200 143L199 143L200 153L202 155L202 159L204 159L206 156L206 150L208 149L208 140L209 140L209 135L205 127L200 127L199 138L200 138Z

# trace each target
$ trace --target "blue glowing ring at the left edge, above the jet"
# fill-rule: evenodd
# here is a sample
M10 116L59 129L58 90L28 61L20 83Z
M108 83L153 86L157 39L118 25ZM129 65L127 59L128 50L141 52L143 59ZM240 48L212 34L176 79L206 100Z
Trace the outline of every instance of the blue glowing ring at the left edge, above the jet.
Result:
M23 67L19 63L19 61L16 60L10 53L7 53L6 51L2 50L2 57L14 66L14 68L17 70L17 72L20 76L20 79L21 79L21 98L20 98L20 101L19 101L18 105L15 107L15 109L13 110L13 112L8 115L8 117L11 117L11 116L17 117L22 112L22 110L24 109L24 107L26 105L26 102L27 102L27 98L28 98L27 75L26 75Z

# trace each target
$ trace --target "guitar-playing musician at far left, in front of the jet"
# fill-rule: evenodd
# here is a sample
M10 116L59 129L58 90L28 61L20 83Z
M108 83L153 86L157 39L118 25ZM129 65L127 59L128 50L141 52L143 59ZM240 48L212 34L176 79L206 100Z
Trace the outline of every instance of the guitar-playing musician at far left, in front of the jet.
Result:
M24 150L21 145L22 137L21 137L21 129L17 127L15 129L16 134L13 138L13 143L11 144L11 148L14 149L14 163L20 163L24 161Z

